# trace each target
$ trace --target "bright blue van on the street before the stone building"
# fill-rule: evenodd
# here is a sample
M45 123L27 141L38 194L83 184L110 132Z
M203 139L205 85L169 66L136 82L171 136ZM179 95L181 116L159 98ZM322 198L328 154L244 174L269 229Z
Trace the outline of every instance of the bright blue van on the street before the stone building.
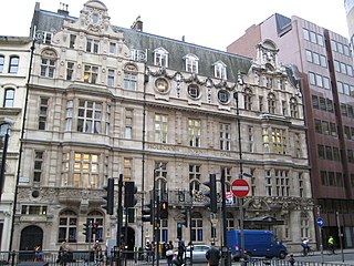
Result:
M285 258L287 247L277 241L271 231L244 229L244 254L251 257L279 257ZM241 231L228 231L228 246L232 258L239 260L242 257Z

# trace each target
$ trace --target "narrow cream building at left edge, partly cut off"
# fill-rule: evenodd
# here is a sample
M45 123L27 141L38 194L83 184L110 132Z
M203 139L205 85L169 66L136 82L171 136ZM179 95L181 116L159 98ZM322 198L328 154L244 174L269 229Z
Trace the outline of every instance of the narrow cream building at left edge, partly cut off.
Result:
M11 245L13 202L17 196L19 140L22 132L31 45L32 39L28 37L0 37L0 154L4 160L0 203L1 250L9 250ZM8 126L10 130L8 144L6 144L4 134Z

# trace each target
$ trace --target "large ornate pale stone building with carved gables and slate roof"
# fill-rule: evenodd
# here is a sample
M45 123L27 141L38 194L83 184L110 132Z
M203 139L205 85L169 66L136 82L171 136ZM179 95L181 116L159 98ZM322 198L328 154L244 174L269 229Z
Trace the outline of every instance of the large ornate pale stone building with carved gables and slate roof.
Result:
M230 191L242 176L246 228L273 229L290 248L314 235L302 95L274 42L259 43L251 60L145 33L139 18L132 29L111 25L97 0L77 19L37 3L31 35L12 248L66 241L85 249L90 222L98 227L92 239L115 238L117 216L106 215L101 196L121 174L138 188L123 222L128 249L153 241L142 208L154 187L168 200L162 242L221 245L222 213L205 207L212 173L226 178L228 229L239 228L241 201ZM183 226L186 207L191 229Z

